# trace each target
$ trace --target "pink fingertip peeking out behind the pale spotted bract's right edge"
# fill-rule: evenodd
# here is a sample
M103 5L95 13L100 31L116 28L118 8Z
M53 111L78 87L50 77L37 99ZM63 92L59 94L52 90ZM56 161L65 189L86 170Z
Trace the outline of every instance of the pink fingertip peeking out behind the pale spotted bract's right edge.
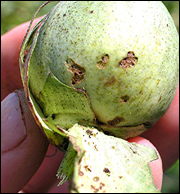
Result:
M138 144L151 147L157 151L157 149L154 147L154 145L149 140L147 140L145 138L138 136L138 137L128 139L128 141L129 142L136 142ZM154 184L157 187L157 189L160 191L161 187L162 187L163 168L162 168L162 160L161 160L161 157L160 157L158 151L157 151L157 154L158 154L158 159L150 162L149 166L150 166L151 171L152 171Z

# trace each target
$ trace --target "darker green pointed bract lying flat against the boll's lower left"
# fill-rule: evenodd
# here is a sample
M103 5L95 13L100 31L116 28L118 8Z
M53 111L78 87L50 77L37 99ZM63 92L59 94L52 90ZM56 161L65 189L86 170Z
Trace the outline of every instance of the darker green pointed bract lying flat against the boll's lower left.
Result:
M94 114L84 92L63 84L53 73L47 76L37 101L44 115L52 117L60 128L68 129L72 123L94 121Z

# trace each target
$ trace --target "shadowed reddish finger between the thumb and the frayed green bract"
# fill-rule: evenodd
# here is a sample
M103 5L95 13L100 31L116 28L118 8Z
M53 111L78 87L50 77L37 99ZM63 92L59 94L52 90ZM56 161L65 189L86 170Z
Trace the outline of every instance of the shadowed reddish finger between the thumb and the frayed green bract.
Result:
M56 150L55 146L49 145L48 152L46 154L42 165L32 177L30 182L22 189L25 193L47 193L49 189L57 182L57 170L64 157L64 153ZM68 188L63 186L58 187L59 193L68 192Z

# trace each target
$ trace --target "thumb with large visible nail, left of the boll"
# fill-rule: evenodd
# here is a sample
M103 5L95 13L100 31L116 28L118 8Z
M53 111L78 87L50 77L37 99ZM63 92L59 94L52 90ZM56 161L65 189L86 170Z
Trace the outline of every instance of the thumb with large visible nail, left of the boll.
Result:
M1 102L1 192L16 193L41 165L48 141L26 103L23 91Z

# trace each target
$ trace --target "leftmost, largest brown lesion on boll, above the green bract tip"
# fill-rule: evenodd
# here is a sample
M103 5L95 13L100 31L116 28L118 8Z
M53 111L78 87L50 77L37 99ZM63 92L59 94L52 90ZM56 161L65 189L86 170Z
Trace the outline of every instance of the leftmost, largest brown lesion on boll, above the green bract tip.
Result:
M71 58L67 58L65 61L67 70L72 73L71 84L74 86L77 83L80 83L84 79L86 69L81 65L75 63Z

